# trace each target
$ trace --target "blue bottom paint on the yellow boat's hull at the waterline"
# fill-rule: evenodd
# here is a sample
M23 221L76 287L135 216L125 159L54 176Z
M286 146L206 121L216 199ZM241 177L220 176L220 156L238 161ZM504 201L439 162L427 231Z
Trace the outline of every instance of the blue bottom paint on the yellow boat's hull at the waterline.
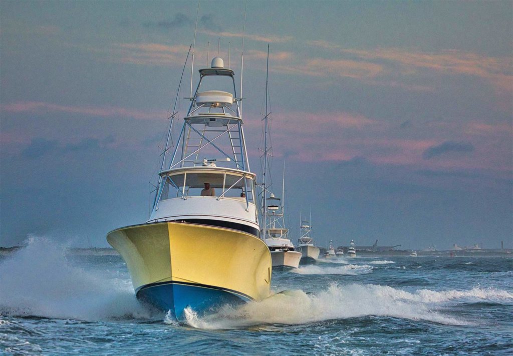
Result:
M236 305L249 301L244 296L226 290L179 283L145 286L137 292L137 299L163 311L170 310L179 321L185 319L184 309L188 306L202 315L225 304Z

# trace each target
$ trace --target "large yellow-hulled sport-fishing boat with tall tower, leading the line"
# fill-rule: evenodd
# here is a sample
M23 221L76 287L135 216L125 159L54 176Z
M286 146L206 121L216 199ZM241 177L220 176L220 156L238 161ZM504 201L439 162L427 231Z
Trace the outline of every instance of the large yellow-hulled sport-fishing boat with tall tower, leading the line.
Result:
M149 220L107 235L126 262L137 298L178 320L186 308L202 314L263 300L272 273L260 238L234 72L219 56L199 72L176 145L170 117ZM202 85L231 92L200 91Z

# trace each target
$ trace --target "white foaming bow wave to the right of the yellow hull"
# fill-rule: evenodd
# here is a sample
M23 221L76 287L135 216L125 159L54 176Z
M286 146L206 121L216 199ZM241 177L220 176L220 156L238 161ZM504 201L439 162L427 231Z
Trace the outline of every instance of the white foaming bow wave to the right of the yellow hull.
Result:
M232 329L265 324L306 324L332 319L382 315L410 320L425 320L447 325L468 325L437 311L433 292L405 292L387 286L332 284L327 290L307 294L301 290L274 294L261 302L232 308L225 306L218 313L198 317L186 313L188 325L202 329ZM456 291L453 291L456 293ZM439 298L447 300L447 296Z

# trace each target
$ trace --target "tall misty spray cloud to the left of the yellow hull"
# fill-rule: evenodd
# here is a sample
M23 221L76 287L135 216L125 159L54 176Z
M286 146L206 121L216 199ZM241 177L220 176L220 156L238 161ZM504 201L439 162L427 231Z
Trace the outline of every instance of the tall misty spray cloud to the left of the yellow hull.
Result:
M78 320L149 317L126 275L83 269L65 252L62 245L32 237L1 263L0 313Z

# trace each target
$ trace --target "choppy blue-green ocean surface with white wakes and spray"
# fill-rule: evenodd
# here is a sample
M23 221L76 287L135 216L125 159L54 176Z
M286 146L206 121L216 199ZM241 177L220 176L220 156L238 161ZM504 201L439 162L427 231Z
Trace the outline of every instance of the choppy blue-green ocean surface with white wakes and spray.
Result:
M31 239L0 259L0 353L513 354L511 258L357 257L272 290L179 324L137 302L120 256Z

